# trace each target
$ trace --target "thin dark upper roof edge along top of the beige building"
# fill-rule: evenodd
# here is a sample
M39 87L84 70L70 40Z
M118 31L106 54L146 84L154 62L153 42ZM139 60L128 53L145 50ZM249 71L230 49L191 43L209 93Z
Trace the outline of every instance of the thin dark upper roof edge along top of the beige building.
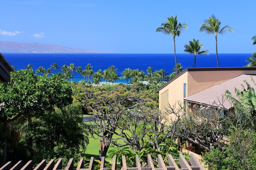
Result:
M256 70L256 67L209 67L209 68L187 68L183 70L181 73L179 73L177 76L172 78L171 80L167 81L166 84L159 87L155 92L159 92L161 89L163 89L165 86L170 84L172 81L179 78L181 75L183 75L185 72L193 72L193 71L234 71L234 70Z

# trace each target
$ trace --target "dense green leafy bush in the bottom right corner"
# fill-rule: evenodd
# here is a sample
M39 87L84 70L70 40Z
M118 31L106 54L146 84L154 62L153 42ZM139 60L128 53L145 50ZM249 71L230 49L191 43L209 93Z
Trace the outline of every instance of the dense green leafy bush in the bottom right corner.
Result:
M209 170L256 170L256 133L238 130L230 137L224 151L213 148L202 155Z

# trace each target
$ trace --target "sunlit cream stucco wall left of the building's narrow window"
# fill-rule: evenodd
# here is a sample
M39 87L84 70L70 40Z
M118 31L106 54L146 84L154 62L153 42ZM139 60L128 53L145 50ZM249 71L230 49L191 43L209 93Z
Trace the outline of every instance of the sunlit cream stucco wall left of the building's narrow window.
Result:
M161 89L159 91L159 109L162 110L162 108L164 108L164 104L165 104L165 98L161 98L161 95L166 92L168 90L168 103L170 104L170 106L173 106L177 103L177 101L179 100L181 102L181 104L183 105L183 84L186 83L187 84L187 93L188 93L188 72L185 72L184 74L182 74L179 78L177 78L176 80L174 80L173 82L171 82L170 84L168 84L167 86L165 86L163 89ZM188 94L187 94L188 95ZM163 94L164 96L164 94ZM176 108L178 109L179 106L178 104L176 104Z

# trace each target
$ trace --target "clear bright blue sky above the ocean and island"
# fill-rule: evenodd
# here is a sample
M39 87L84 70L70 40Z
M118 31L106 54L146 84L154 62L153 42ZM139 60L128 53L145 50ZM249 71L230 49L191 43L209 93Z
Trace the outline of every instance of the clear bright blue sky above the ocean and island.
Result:
M214 14L233 32L218 36L219 53L253 53L255 0L1 0L0 41L47 43L118 53L173 53L172 36L155 32L171 15L188 24L176 52L199 39L215 53L214 35L199 32Z

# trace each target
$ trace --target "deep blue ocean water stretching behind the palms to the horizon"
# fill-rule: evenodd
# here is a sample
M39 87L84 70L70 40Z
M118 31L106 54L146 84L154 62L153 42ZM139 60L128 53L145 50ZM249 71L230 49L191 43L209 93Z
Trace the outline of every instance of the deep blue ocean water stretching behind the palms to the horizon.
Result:
M247 65L246 59L251 54L218 54L220 67L242 67ZM169 74L173 72L175 66L174 54L16 54L3 53L3 56L15 66L15 69L26 69L29 63L36 70L39 66L45 69L50 68L52 63L58 63L63 66L74 63L75 66L82 66L85 69L87 63L93 67L93 71L98 69L102 71L109 66L114 65L117 68L117 74L126 69L139 69L146 72L149 66L153 70L164 69ZM194 67L194 56L191 54L177 54L177 62L181 63L183 68ZM197 55L196 67L217 67L216 54ZM60 69L57 72L61 72ZM74 72L74 81L80 81L80 75ZM117 82L125 82L119 80Z

